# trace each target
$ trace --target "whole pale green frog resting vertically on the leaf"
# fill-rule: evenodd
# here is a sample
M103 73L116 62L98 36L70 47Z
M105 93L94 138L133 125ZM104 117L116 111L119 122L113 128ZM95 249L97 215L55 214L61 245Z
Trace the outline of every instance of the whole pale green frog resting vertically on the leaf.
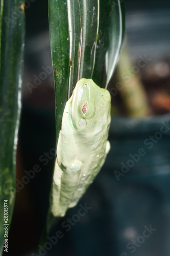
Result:
M82 106L87 102L87 111ZM64 216L99 173L110 150L110 93L82 78L66 102L57 145L52 214Z

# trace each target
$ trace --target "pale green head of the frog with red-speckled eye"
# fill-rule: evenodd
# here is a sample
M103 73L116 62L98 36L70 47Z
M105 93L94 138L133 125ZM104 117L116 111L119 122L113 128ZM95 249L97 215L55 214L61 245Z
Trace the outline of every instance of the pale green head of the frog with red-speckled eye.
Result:
M82 78L76 84L70 102L70 119L76 131L93 130L110 123L110 93L92 79Z

